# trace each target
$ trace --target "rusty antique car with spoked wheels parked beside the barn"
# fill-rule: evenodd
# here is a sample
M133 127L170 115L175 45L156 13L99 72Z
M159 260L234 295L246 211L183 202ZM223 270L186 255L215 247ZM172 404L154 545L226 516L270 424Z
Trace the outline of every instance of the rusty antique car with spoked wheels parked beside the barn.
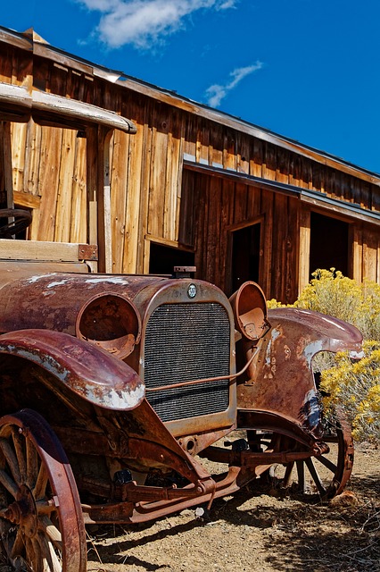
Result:
M133 132L110 112L44 97L2 86L2 121ZM284 486L343 491L351 432L341 414L334 430L323 424L312 358L359 357L358 330L267 311L254 282L227 299L191 268L96 273L92 248L51 260L51 243L36 259L33 241L12 239L29 212L0 214L0 529L12 566L84 572L85 525L210 509L277 465ZM203 459L224 469L212 475Z

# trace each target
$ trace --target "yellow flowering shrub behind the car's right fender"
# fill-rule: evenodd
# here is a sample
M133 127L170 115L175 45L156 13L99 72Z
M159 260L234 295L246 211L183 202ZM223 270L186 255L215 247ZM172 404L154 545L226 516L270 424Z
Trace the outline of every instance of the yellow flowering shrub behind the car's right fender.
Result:
M269 307L279 306L270 300ZM380 285L368 280L358 284L335 268L318 269L294 306L333 315L362 332L366 340L362 360L319 354L314 366L321 371L326 412L339 404L357 440L380 443Z

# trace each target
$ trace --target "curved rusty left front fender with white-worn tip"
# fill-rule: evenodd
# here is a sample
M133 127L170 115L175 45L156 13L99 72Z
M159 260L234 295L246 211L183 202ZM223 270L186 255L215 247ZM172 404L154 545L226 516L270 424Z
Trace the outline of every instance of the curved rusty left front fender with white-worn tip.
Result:
M78 396L102 408L126 411L136 408L145 396L145 385L130 366L67 333L37 329L4 333L0 353L43 367Z

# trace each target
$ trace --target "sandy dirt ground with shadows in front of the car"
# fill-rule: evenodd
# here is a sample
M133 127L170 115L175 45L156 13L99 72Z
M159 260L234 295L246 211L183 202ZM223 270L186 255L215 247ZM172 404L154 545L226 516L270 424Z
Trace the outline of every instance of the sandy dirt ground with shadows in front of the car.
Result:
M186 509L144 526L92 528L87 571L378 572L380 450L357 446L348 490L321 503L257 482L214 501L210 521Z

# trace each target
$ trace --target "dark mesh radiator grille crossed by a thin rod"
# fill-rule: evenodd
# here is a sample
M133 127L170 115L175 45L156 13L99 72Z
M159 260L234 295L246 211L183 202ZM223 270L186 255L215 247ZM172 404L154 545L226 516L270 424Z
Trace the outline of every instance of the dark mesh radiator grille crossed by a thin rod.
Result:
M229 374L230 324L217 303L163 304L145 332L145 385L156 388ZM228 380L147 391L162 421L211 415L228 407Z

